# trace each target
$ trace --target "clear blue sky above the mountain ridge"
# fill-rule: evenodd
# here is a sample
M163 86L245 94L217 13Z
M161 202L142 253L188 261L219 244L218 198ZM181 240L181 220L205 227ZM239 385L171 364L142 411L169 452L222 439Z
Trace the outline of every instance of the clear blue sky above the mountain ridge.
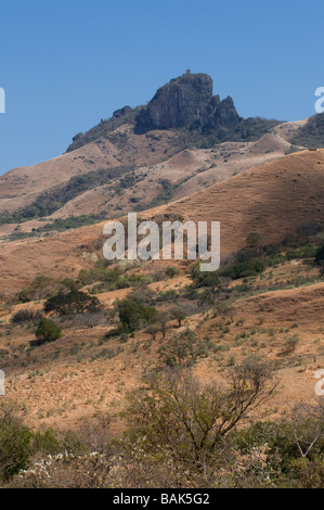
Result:
M242 116L314 114L323 0L1 0L0 174L185 72L208 73Z

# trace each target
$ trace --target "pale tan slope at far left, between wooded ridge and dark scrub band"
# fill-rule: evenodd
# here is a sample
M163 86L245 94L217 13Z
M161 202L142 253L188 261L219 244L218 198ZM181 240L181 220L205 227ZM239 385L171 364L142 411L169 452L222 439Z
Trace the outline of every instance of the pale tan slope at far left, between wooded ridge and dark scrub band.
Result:
M35 166L15 168L0 177L0 212L29 205L43 191L73 176L119 165L155 164L166 158L173 132L134 135L129 125L106 138Z

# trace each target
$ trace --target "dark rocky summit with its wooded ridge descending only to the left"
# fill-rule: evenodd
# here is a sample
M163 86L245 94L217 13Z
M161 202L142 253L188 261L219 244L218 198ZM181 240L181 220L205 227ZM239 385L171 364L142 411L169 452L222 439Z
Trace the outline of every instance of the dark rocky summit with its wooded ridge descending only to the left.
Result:
M210 76L187 71L160 87L146 106L124 106L116 110L111 118L102 119L85 133L76 135L67 152L105 138L125 124L132 125L138 135L152 129L197 128L207 132L216 130L219 137L221 127L234 125L237 120L242 118L232 98L221 101L219 95L212 95Z

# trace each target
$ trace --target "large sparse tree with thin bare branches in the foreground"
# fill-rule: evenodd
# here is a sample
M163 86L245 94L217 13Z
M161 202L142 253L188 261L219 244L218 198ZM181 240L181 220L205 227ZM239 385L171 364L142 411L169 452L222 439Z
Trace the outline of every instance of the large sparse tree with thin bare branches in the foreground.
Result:
M212 472L224 442L274 392L272 367L254 356L229 371L229 386L203 384L191 371L167 370L128 396L128 434L179 469Z

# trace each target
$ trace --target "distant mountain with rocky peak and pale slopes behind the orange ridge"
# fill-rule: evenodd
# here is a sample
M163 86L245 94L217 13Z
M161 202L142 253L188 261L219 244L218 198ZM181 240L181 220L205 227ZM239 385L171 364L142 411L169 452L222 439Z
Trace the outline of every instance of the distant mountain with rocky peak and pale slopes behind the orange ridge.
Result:
M212 93L208 75L186 72L146 106L78 133L65 154L1 176L0 242L142 211L291 150L299 123L244 119Z

